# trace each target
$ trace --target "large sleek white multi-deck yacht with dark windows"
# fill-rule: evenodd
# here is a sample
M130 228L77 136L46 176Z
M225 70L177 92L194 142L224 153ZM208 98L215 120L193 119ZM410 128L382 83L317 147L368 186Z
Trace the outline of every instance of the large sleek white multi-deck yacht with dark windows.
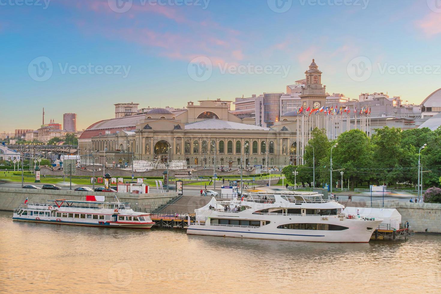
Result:
M238 211L235 211L237 208ZM196 209L187 234L308 242L369 242L382 220L341 213L314 192L250 194Z

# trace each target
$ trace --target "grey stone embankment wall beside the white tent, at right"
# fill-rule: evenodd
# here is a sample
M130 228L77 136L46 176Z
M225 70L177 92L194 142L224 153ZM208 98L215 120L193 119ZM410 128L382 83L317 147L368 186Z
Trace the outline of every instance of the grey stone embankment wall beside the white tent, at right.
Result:
M371 202L367 202L368 206ZM371 207L382 207L382 202L372 202ZM430 233L441 233L441 204L415 202L385 202L385 208L396 208L401 221L409 222L409 229Z

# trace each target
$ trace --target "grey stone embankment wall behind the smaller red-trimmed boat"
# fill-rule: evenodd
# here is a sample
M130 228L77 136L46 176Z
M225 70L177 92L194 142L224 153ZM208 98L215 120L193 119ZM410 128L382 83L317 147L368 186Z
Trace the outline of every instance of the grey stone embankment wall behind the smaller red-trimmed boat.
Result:
M74 190L37 190L22 188L0 188L0 210L14 210L24 203L26 197L30 203L45 203L48 200L68 199L85 200L86 195L105 196L106 201L115 201L113 193L106 192L81 192ZM116 194L121 202L129 202L131 206L147 209L156 209L174 197L176 192L149 193L149 194Z

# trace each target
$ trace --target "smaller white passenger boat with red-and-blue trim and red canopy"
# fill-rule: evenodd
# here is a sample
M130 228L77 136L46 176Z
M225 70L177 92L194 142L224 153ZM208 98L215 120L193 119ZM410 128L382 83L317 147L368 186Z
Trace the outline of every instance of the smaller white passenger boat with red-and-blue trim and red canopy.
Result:
M149 213L134 212L129 203L120 202L118 199L116 202L106 202L104 197L103 201L57 199L49 200L49 202L51 203L21 204L19 208L14 209L12 219L38 223L134 229L149 229L154 225Z

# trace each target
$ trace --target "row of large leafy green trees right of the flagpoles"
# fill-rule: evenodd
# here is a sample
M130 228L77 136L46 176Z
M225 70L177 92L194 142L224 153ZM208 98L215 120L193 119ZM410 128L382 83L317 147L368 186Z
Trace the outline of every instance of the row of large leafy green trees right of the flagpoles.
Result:
M349 182L351 189L363 184L387 185L394 189L416 186L418 182L419 149L421 151L422 183L424 187L440 186L441 181L441 127L401 130L384 127L375 129L372 138L361 130L349 130L336 140L329 140L325 130L315 128L305 147L304 164L289 165L283 173L294 182L293 171L297 171L297 183L310 186L313 182L315 162L315 186L330 182L330 153L333 148L333 186L340 181ZM313 154L314 148L314 154ZM315 155L315 156L313 156ZM347 184L344 185L347 187Z

